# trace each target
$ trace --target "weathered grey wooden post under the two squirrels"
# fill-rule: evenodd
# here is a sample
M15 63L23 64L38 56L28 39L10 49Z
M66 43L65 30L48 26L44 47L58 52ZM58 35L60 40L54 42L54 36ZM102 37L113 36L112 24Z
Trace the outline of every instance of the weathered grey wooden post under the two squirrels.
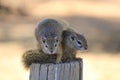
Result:
M82 69L82 59L58 64L32 64L30 80L82 80Z

